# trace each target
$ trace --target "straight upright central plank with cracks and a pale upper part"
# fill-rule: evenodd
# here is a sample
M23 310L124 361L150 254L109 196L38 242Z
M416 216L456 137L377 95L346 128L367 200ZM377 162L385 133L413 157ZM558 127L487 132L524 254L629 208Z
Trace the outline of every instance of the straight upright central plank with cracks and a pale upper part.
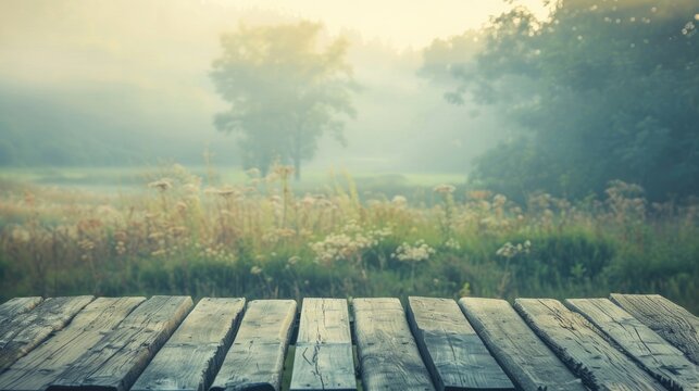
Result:
M303 299L291 390L357 390L345 299Z

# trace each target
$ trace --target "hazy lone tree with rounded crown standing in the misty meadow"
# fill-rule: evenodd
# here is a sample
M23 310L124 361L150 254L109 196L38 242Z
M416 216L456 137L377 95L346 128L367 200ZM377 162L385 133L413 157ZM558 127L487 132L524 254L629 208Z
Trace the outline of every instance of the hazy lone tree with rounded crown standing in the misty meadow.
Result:
M321 30L301 22L240 26L222 37L211 77L230 106L214 123L239 136L246 167L266 173L278 159L292 163L299 179L301 162L313 157L325 131L345 143L357 85L345 61L347 42L336 39L319 50Z

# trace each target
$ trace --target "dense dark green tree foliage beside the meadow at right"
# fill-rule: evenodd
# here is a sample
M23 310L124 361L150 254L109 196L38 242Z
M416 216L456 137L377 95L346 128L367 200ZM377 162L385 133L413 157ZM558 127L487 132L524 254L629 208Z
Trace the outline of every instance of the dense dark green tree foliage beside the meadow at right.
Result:
M436 41L423 74L455 84L452 102L497 104L512 122L477 161L476 184L517 199L600 194L612 179L651 199L692 195L697 24L692 0L563 0L545 21L515 8L484 31Z

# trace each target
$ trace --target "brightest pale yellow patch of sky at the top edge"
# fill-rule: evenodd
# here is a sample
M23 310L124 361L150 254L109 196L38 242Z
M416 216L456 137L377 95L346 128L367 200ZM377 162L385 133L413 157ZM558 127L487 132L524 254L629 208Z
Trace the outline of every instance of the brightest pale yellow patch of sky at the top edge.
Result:
M201 0L242 10L273 11L322 22L330 34L345 28L365 39L378 38L396 49L421 49L435 38L459 35L480 27L491 15L507 10L502 0ZM547 14L542 0L520 0L537 13Z

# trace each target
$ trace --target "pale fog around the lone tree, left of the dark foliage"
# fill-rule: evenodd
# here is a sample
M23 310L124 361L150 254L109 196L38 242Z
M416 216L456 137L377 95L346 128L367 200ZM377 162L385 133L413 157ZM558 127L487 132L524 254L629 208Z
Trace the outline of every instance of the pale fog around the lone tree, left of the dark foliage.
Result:
M202 164L207 149L215 163L236 164L235 137L213 126L225 106L209 78L220 35L295 22L298 12L194 0L10 1L0 17L4 164ZM346 123L347 147L325 137L312 166L464 172L498 139L487 110L451 105L442 86L417 75L422 48L339 23L323 34L350 42L358 116ZM421 31L415 42L428 37Z

